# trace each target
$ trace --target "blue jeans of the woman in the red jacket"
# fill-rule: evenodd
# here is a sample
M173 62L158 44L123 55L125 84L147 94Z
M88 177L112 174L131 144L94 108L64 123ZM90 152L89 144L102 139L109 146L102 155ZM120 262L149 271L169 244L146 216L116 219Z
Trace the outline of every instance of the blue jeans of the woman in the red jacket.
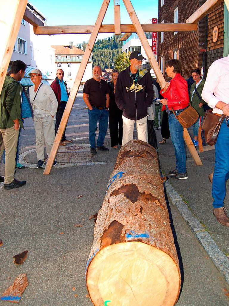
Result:
M169 131L176 155L176 169L184 174L186 169L186 152L184 147L184 128L174 114L169 114Z

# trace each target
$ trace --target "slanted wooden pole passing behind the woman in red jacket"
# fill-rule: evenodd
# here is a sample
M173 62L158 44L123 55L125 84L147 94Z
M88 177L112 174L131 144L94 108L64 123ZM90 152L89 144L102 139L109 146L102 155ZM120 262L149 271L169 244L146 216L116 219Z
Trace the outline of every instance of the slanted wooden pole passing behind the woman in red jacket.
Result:
M158 82L161 86L161 88L164 88L165 87L165 79L162 75L162 72L158 66L158 63L156 61L156 58L154 57L154 54L153 54L153 51L147 41L147 38L146 38L146 35L143 31L143 28L138 20L138 17L135 13L135 10L133 8L133 5L131 3L130 0L123 0L124 4L125 4L125 7L127 9L127 12L129 13L129 17L131 19L131 21L133 22L133 25L136 29L136 32L138 34L138 37L142 43L142 46L144 47L144 50L146 52L146 55L147 55L147 58L149 59L150 63L151 63L151 66L152 68L154 69L154 73L155 75L157 76L157 79L158 79ZM190 142L190 136L187 132L187 129L184 129L184 140L187 144L187 147L196 163L196 165L202 165L202 162L200 160L200 157L194 147L194 144L192 143L192 141Z

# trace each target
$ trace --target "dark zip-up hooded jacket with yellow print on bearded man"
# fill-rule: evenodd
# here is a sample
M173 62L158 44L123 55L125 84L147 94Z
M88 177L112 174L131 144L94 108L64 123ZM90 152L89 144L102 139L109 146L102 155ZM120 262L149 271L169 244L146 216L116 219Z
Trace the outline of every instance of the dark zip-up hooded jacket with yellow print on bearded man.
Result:
M136 85L130 76L130 66L119 73L115 85L115 102L123 111L123 116L131 120L140 120L147 116L147 107L154 99L154 90L150 74L140 70Z

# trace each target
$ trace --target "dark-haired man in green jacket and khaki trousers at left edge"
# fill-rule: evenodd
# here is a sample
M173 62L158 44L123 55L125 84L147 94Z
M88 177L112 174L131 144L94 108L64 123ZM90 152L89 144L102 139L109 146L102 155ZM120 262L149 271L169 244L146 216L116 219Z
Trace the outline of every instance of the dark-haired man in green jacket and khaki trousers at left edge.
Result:
M21 120L21 93L19 83L24 77L26 64L14 61L10 76L5 77L0 95L0 160L5 149L5 177L0 176L0 182L5 181L5 189L13 189L26 184L26 181L17 181L14 177L15 157L19 127Z

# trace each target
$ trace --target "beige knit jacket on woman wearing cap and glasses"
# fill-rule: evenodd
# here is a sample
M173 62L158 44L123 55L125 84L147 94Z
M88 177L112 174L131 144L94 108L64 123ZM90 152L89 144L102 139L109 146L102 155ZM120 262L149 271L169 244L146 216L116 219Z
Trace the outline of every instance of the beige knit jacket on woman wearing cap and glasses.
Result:
M41 86L41 84L43 85ZM41 84L39 85L39 87L41 86L41 88L39 89L37 95L34 92L35 85L29 88L29 99L33 107L33 110L36 104L36 106L40 108L41 110L44 110L50 115L55 116L56 111L57 111L57 105L58 105L56 96L52 88L48 84L44 84L44 83L41 83ZM35 95L36 95L36 98L33 101Z

